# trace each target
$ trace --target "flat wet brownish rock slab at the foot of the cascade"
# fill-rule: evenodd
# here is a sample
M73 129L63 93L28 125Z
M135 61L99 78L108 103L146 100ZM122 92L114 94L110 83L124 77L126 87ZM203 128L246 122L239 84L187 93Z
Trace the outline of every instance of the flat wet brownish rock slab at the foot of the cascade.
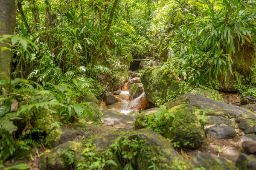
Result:
M134 116L125 115L117 111L109 109L101 109L102 122L104 125L115 127L116 129L133 129L134 127Z

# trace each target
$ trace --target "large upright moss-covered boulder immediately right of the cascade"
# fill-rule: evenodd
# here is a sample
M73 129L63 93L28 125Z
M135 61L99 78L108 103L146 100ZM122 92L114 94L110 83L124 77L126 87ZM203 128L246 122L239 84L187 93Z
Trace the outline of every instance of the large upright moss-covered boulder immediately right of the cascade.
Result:
M149 102L156 104L159 99L166 100L167 96L180 93L181 83L169 75L161 66L148 67L143 70L141 82Z

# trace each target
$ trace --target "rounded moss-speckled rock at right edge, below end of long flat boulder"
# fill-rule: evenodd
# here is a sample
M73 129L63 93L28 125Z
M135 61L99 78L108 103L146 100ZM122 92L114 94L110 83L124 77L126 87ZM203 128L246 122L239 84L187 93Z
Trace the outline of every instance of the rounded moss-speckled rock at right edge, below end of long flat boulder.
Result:
M245 134L256 133L256 116L243 119L239 123L239 128L243 130Z

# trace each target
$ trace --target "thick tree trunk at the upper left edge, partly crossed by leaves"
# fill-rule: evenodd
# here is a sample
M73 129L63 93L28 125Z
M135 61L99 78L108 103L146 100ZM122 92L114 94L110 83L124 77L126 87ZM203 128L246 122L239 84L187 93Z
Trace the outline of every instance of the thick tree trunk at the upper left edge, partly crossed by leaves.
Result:
M16 0L0 0L0 36L4 34L13 34L16 23ZM0 43L0 79L10 78L10 61L12 52L10 50L2 51L3 47L11 48L6 43Z

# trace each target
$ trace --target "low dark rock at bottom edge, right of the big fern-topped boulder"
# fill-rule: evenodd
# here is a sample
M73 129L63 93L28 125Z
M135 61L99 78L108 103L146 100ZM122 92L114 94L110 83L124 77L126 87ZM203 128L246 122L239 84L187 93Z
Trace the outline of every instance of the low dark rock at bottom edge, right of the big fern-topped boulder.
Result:
M235 167L224 158L217 158L209 153L197 153L190 161L206 170L235 170Z

